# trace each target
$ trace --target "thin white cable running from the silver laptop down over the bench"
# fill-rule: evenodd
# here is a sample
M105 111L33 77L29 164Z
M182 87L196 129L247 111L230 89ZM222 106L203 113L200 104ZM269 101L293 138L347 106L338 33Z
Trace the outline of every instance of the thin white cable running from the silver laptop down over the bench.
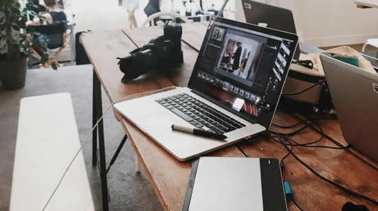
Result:
M143 95L143 94L147 94L147 93L151 93L151 92L159 92L159 91L162 91L162 90L166 90L166 89L168 89L168 88L177 88L177 87L176 87L176 86L170 86L170 87L162 88L162 89L155 90L155 91L141 92L141 93L138 93L138 94L135 94L135 95L130 95L130 96L128 96L128 97L124 97L124 98L122 98L122 99L118 99L117 101L114 101L113 103L111 103L111 105L109 105L109 107L107 108L107 110L105 110L104 114L102 114L101 118L98 119L96 125L94 125L94 127L91 129L91 132L89 132L87 138L85 138L85 141L82 142L82 145L81 145L80 149L78 150L78 152L77 152L76 155L74 156L74 159L72 159L72 161L69 163L69 165L68 165L68 167L67 167L65 173L63 173L62 178L60 178L60 181L59 181L59 183L58 183L58 186L56 186L54 192L53 192L52 195L49 197L49 201L47 201L47 203L46 203L46 205L45 205L45 207L43 208L42 211L44 211L44 210L46 209L47 205L49 205L49 202L51 201L52 197L54 196L56 190L58 190L58 188L59 188L59 186L60 186L60 183L62 183L63 178L65 177L65 175L66 175L66 173L67 173L69 167L71 167L71 164L74 162L74 160L76 159L76 157L77 157L78 154L80 153L82 147L84 147L85 142L87 142L87 140L88 140L89 136L91 136L93 130L97 127L98 123L102 120L102 118L104 117L104 115L108 112L108 110L111 108L111 106L114 105L114 103L118 103L119 101L122 101L122 100L124 100L124 99L128 99L128 98L130 98L130 97L134 97L134 96L136 96L136 95Z

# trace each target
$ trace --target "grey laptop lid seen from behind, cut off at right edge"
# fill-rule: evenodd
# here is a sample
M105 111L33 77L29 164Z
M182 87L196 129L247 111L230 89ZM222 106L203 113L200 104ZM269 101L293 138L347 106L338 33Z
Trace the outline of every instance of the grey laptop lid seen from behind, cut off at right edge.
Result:
M320 55L344 139L378 161L378 75Z

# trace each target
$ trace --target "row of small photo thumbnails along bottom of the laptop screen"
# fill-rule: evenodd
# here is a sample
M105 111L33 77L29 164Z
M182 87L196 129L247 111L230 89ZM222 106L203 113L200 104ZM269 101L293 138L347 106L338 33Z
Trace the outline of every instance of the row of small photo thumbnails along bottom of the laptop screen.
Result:
M261 98L257 95L252 94L251 92L247 92L246 90L243 90L241 88L238 88L237 86L234 86L228 82L224 82L221 79L218 79L212 75L208 75L206 73L203 73L199 71L198 77L205 80L206 82L213 84L214 86L218 88L222 88L225 91L232 92L235 95L239 95L243 97L244 99L247 99L248 101L251 101L254 105L257 105L260 103Z

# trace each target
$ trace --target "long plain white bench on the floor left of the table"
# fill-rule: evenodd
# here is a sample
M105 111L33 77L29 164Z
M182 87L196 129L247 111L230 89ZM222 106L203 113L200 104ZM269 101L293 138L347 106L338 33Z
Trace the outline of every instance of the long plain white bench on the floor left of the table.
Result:
M79 148L69 93L21 99L10 211L42 211ZM45 210L95 210L82 152Z

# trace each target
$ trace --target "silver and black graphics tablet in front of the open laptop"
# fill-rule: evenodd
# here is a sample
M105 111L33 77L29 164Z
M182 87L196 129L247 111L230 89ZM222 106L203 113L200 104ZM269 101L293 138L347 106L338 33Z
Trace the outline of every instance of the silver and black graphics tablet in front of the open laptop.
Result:
M287 211L280 162L272 158L194 160L181 211Z

